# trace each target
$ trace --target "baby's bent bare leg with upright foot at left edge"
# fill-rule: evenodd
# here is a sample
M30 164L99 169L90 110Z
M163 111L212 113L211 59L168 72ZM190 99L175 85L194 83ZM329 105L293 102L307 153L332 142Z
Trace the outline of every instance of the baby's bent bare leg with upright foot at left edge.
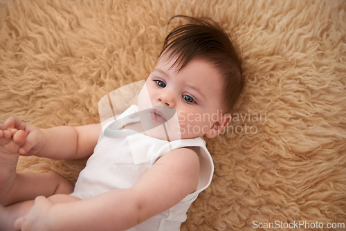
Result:
M25 142L26 134L24 131L2 132L1 138L0 130L0 205L73 192L73 185L57 174L17 173L18 149Z

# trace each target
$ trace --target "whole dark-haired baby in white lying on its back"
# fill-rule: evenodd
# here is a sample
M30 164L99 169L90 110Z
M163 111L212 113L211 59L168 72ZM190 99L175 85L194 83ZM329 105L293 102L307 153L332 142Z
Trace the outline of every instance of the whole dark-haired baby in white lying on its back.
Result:
M0 124L0 230L179 230L213 174L202 138L227 127L244 87L226 33L184 18L138 104L103 127ZM20 155L90 158L73 187L56 174L17 173Z

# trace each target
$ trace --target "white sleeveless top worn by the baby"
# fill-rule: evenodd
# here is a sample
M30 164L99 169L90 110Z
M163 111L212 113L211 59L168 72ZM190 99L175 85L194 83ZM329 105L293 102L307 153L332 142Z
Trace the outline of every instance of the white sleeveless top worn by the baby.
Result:
M120 115L120 118L136 111L138 107L132 105ZM86 199L110 190L130 188L159 157L172 149L194 147L199 155L201 166L197 190L169 210L130 229L131 231L180 230L181 223L186 220L188 208L199 193L206 190L212 180L214 165L206 148L206 142L202 138L169 142L145 136L131 129L120 129L120 127L113 131L116 132L116 138L109 138L105 136L104 131L113 122L108 122L102 128L94 153L87 161L86 167L80 172L75 190L71 195ZM131 122L134 122L134 118L131 118Z

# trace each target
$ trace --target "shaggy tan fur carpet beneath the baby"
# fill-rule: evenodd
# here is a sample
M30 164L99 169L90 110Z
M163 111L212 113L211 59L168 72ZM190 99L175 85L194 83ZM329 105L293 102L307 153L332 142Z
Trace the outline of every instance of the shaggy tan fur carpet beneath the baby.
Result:
M172 16L210 17L241 50L246 89L228 129L206 140L215 175L181 230L342 223L345 11L342 0L1 0L0 122L10 115L42 128L98 122L103 95L154 68L179 23L167 26ZM29 157L18 170L75 182L84 164Z

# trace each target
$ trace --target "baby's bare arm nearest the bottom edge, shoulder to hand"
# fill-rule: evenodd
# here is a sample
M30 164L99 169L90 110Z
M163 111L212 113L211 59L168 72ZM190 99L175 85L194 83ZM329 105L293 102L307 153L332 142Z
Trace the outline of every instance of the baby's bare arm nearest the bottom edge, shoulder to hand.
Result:
M159 158L130 189L71 203L38 201L46 212L34 206L16 225L36 231L39 225L46 225L42 230L127 230L179 203L196 190L198 181L197 154L176 149Z

